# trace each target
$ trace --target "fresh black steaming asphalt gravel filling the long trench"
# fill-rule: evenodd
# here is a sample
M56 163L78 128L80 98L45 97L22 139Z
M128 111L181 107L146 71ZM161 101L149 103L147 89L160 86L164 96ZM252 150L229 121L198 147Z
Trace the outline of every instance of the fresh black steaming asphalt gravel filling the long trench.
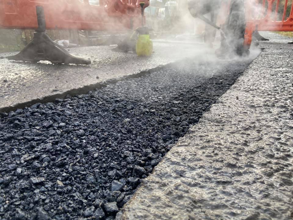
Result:
M250 62L188 60L1 113L0 219L114 219Z

